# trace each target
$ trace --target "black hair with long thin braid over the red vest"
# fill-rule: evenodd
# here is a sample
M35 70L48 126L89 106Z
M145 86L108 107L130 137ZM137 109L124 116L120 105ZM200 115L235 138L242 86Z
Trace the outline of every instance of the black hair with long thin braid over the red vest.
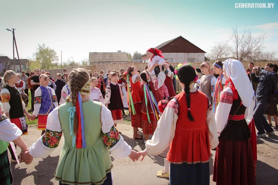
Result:
M181 83L184 84L184 92L186 96L186 103L188 107L187 117L189 120L194 121L194 118L190 112L190 82L196 77L194 68L191 65L185 64L178 69L178 78Z

